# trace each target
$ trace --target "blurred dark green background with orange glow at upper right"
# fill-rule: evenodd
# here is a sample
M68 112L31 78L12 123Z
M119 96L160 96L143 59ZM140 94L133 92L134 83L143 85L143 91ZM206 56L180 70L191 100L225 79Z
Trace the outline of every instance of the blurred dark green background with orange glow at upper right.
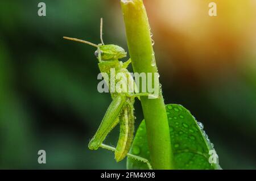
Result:
M39 2L0 2L0 169L125 169L87 148L111 101L97 92L95 49L62 39L99 43L103 17L105 43L127 50L119 1L44 0L47 16ZM256 169L256 1L213 1L216 17L209 2L144 1L164 99L204 124L223 169Z

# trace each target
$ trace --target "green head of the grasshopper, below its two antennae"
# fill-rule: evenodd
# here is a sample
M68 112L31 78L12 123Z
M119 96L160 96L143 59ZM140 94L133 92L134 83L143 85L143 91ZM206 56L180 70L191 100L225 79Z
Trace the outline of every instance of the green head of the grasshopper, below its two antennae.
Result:
M122 47L117 45L101 45L101 60L118 60L119 58L126 57L126 52ZM98 57L98 50L94 53Z

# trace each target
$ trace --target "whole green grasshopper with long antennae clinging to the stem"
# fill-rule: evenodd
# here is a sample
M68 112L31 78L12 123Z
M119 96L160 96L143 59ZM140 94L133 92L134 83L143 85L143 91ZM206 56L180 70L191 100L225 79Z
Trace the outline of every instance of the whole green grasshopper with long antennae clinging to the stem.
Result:
M131 59L126 62L119 61L118 59L126 57L126 52L123 48L109 44L105 45L102 39L102 19L101 19L101 28L100 28L100 39L101 44L93 44L89 41L84 41L80 39L75 39L71 37L63 37L64 39L79 41L80 43L85 43L96 47L97 50L94 53L98 59L98 67L100 68L101 73L106 73L110 75L110 70L115 69L115 73L125 73L130 74L127 70L127 66L131 63ZM104 77L104 75L103 75ZM134 79L129 77L129 86L131 89L137 89ZM109 79L104 77L104 80L108 85L110 85ZM109 86L110 89L110 86ZM148 93L128 93L122 90L115 90L114 92L110 91L112 96L112 103L110 104L108 110L105 113L104 118L98 128L96 134L94 134L92 140L89 142L89 149L97 150L99 147L112 150L115 153L115 160L117 162L122 161L123 158L128 155L131 158L138 159L139 161L147 163L148 167L151 169L150 163L147 159L138 157L137 155L129 154L131 144L134 137L134 101L139 96L148 96ZM102 142L105 140L106 136L110 131L120 123L120 134L117 143L117 147L113 148L112 146L104 145Z

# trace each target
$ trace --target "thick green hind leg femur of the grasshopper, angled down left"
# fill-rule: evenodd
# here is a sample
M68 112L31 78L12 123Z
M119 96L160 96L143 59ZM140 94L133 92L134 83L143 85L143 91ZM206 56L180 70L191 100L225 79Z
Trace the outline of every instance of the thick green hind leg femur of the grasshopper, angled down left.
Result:
M92 140L89 142L89 149L97 150L105 140L108 133L112 131L115 125L118 124L118 116L124 103L125 98L123 96L117 96L112 100L112 103L109 105L109 108L102 119L100 127L98 128L96 134L94 134Z

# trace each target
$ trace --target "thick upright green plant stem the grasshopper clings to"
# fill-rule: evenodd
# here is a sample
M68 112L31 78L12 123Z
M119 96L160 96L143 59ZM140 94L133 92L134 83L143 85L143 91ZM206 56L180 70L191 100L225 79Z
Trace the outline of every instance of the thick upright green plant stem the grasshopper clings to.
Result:
M127 43L134 72L158 73L151 43L150 26L142 0L121 1ZM159 83L153 86L158 86ZM158 99L141 97L153 169L173 169L170 132L162 92Z

